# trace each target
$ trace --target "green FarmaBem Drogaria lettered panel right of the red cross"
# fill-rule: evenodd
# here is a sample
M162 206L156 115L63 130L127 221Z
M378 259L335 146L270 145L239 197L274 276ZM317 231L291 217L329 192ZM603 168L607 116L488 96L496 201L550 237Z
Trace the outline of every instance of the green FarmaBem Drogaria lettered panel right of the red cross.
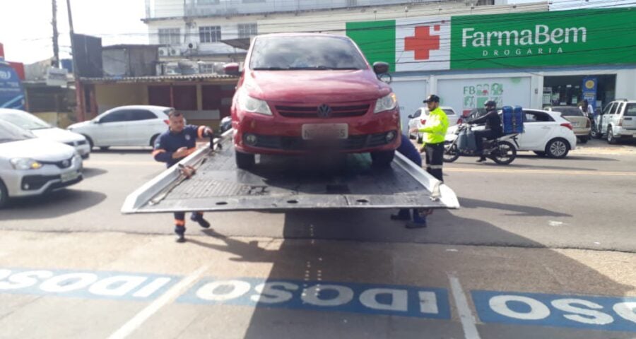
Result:
M636 63L636 8L454 16L451 69Z

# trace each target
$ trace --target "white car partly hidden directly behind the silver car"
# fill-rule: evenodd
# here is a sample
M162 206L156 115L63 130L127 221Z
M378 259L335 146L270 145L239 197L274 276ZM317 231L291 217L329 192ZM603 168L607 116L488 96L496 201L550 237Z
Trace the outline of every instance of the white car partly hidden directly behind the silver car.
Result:
M28 112L21 111L20 109L0 108L0 119L11 122L11 124L20 128L32 131L38 138L73 146L83 159L88 159L90 155L90 146L84 136L53 127L46 121Z

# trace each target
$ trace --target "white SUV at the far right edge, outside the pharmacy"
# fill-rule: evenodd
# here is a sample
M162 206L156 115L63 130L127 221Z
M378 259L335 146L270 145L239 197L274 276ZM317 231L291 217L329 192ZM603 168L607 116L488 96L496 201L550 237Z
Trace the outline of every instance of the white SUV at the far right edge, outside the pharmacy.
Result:
M596 124L592 136L605 136L608 143L636 138L636 100L615 100L608 103L594 122Z

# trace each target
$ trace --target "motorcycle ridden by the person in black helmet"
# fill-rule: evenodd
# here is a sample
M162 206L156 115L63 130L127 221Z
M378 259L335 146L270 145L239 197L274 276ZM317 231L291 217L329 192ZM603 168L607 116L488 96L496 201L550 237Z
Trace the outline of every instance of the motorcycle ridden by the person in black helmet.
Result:
M476 147L469 147L468 145L471 141L474 143L474 135L471 131L472 126L464 123L457 125L457 129L454 132L447 134L446 141L444 141L444 162L454 162L460 155L478 156ZM499 165L510 164L517 157L517 148L519 148L519 143L517 143L518 135L518 133L507 134L494 140L484 141L483 155ZM461 138L466 138L464 141L467 142L460 143ZM469 140L469 138L473 139ZM514 145L511 141L514 142Z

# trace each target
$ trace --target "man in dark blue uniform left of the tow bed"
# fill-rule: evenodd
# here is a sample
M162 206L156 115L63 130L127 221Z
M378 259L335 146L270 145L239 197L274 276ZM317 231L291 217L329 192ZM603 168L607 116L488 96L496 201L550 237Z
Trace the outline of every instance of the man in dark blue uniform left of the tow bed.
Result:
M181 112L172 110L168 114L169 124L167 131L163 132L155 141L153 157L159 162L165 162L167 167L175 165L184 157L196 150L196 138L209 137L213 131L208 126L194 126L184 124ZM184 167L182 173L190 177L194 174L192 167ZM203 213L194 212L190 220L199 222L204 228L210 227L210 223L203 218ZM185 242L185 213L175 213L175 233L177 242Z

